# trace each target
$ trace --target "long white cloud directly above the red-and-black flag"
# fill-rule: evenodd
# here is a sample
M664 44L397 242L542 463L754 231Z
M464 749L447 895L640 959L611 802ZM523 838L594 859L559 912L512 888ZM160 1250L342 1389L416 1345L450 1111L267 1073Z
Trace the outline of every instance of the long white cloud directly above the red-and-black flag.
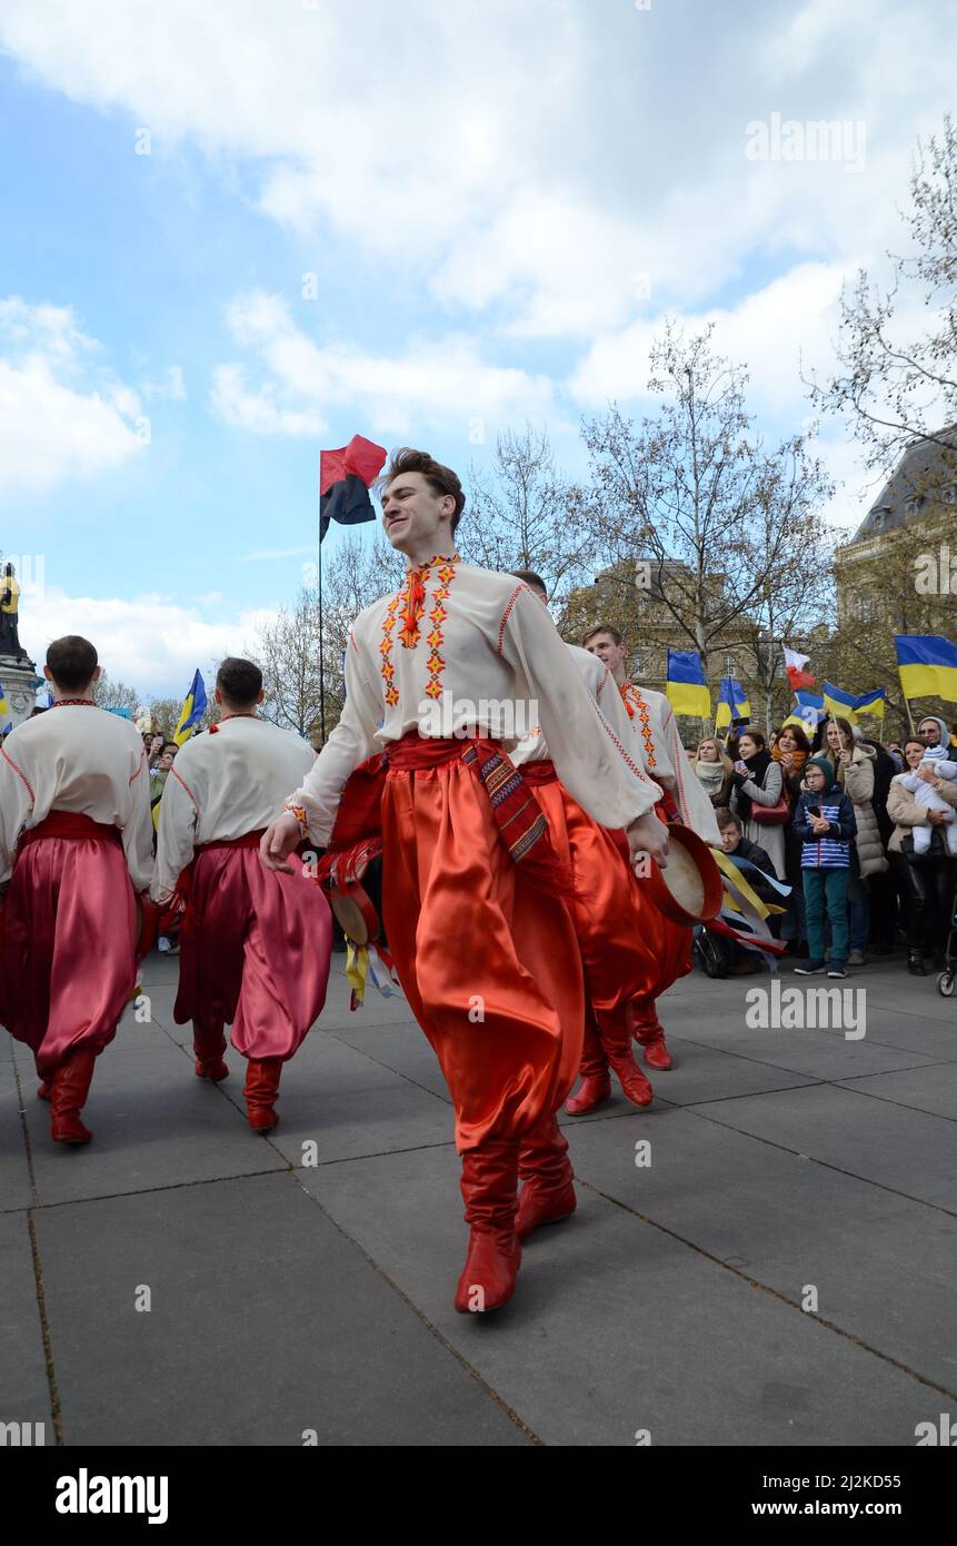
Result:
M243 365L215 371L212 402L224 422L258 434L320 434L325 411L362 410L373 433L402 436L417 427L455 425L492 436L509 422L555 411L546 376L485 363L468 337L413 340L399 359L346 345L320 346L292 320L286 301L264 291L237 295L229 329L264 371L246 386Z

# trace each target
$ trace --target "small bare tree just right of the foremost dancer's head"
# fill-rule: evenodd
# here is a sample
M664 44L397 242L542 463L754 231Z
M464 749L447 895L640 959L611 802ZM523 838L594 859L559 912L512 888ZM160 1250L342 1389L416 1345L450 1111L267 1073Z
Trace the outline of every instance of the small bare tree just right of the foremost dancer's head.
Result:
M499 434L489 472L468 475L459 552L482 569L533 569L549 598L564 595L589 567L594 547L587 496L555 468L547 433L526 425Z

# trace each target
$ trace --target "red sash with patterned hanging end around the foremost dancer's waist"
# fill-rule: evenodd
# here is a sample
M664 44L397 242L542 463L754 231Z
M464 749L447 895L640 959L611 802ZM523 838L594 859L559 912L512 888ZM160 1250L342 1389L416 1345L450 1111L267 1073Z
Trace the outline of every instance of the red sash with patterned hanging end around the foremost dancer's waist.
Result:
M417 730L407 731L385 751L360 762L346 779L329 849L318 863L317 878L335 884L339 877L354 875L360 849L365 863L382 852L382 793L387 773L416 773L459 759L481 778L512 861L523 864L523 873L541 890L570 895L574 880L567 864L560 863L552 847L544 813L530 793L523 770L513 765L501 745L478 736L442 741L438 736L421 736Z

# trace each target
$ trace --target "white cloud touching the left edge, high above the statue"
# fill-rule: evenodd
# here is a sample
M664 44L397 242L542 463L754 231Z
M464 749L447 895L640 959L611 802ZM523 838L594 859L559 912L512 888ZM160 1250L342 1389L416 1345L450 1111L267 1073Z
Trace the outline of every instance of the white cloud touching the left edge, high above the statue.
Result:
M0 496L91 478L142 450L139 397L99 352L71 308L0 301Z

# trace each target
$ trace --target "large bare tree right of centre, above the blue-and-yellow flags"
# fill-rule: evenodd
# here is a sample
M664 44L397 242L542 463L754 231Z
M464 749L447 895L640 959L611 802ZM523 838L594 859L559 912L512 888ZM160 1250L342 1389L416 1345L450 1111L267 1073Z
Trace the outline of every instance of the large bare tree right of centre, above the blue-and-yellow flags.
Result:
M713 352L711 331L686 337L669 323L652 345L657 416L635 425L612 405L584 425L603 557L654 594L673 643L697 649L705 671L734 628L758 626L779 646L779 629L819 617L832 493L813 430L765 450L747 411L747 369ZM762 669L771 673L770 656Z

